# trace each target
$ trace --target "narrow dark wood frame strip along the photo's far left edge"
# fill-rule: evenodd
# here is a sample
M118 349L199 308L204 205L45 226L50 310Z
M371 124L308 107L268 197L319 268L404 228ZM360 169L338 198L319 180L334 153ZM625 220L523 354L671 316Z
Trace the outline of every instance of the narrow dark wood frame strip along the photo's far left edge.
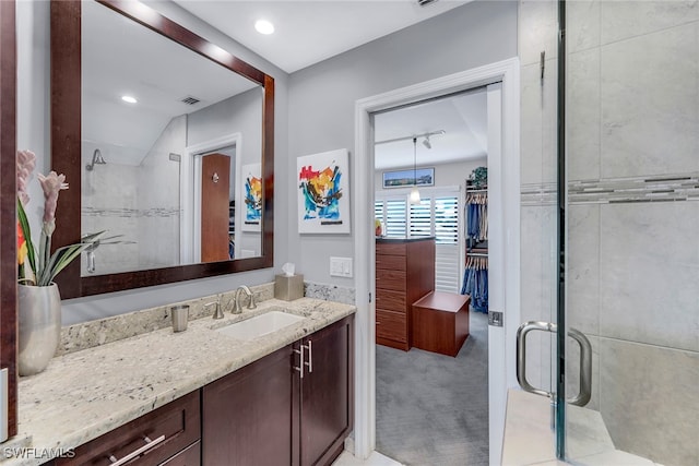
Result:
M8 435L17 433L15 2L0 1L0 368L8 369Z

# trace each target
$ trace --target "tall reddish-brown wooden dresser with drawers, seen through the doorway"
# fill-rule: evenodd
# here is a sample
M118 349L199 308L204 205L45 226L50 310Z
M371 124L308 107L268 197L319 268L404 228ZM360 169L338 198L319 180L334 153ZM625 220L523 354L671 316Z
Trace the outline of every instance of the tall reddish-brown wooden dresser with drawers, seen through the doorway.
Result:
M413 302L434 289L434 238L377 238L376 343L411 349Z

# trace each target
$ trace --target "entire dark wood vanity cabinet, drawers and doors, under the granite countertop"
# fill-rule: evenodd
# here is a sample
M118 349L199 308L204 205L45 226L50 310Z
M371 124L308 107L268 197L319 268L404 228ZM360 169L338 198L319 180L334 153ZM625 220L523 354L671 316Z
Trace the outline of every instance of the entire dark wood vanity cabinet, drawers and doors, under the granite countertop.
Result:
M330 465L353 414L350 315L45 466Z

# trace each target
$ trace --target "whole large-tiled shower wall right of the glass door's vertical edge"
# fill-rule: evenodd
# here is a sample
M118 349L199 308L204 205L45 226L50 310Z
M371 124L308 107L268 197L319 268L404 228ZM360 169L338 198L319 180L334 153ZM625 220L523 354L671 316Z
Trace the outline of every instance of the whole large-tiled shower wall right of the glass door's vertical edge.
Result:
M568 10L568 321L616 447L667 465L699 464L698 20L697 1Z

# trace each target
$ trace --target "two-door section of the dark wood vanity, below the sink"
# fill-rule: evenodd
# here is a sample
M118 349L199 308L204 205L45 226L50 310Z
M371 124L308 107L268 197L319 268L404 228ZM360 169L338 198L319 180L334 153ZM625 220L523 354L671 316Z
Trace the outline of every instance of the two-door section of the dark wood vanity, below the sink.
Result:
M202 464L331 464L353 427L353 345L347 316L204 386Z

